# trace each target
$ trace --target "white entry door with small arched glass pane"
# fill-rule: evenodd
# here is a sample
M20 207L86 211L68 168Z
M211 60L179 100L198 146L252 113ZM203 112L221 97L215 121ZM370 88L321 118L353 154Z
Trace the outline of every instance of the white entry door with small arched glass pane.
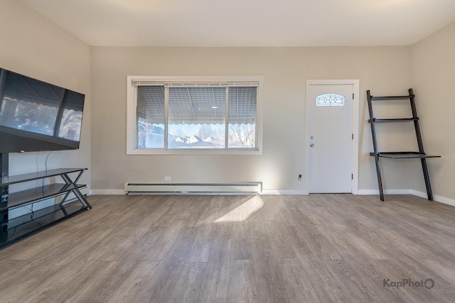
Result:
M307 85L308 192L352 192L352 84Z

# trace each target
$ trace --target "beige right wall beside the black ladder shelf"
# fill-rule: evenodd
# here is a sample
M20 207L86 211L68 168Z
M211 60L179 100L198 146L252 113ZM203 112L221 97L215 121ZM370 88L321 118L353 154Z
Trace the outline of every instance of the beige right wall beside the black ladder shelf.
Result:
M455 23L412 45L412 85L433 193L455 199ZM412 189L425 192L422 168L412 166Z

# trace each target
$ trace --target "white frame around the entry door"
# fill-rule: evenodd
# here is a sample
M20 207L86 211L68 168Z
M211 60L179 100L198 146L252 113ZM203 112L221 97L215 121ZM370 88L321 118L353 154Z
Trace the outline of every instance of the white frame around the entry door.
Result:
M358 79L338 79L338 80L306 80L305 92L305 167L306 167L306 194L309 194L309 125L308 125L308 111L307 102L309 99L309 87L312 85L352 85L354 98L352 102L352 133L354 135L352 141L351 153L351 172L353 179L351 180L351 192L358 194L358 143L359 143L359 106L360 106L360 81Z

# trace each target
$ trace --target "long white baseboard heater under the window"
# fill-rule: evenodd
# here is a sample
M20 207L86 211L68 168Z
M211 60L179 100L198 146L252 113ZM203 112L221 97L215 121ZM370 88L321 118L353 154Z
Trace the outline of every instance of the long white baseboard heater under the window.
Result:
M259 194L262 182L125 183L125 194Z

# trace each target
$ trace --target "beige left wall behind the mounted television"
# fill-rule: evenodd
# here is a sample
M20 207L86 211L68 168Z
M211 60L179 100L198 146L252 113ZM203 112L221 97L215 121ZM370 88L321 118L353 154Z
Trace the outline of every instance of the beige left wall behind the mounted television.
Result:
M52 152L48 168L90 167L89 46L16 0L0 0L0 41L0 67L85 94L80 150ZM47 155L10 154L10 174L44 170Z

